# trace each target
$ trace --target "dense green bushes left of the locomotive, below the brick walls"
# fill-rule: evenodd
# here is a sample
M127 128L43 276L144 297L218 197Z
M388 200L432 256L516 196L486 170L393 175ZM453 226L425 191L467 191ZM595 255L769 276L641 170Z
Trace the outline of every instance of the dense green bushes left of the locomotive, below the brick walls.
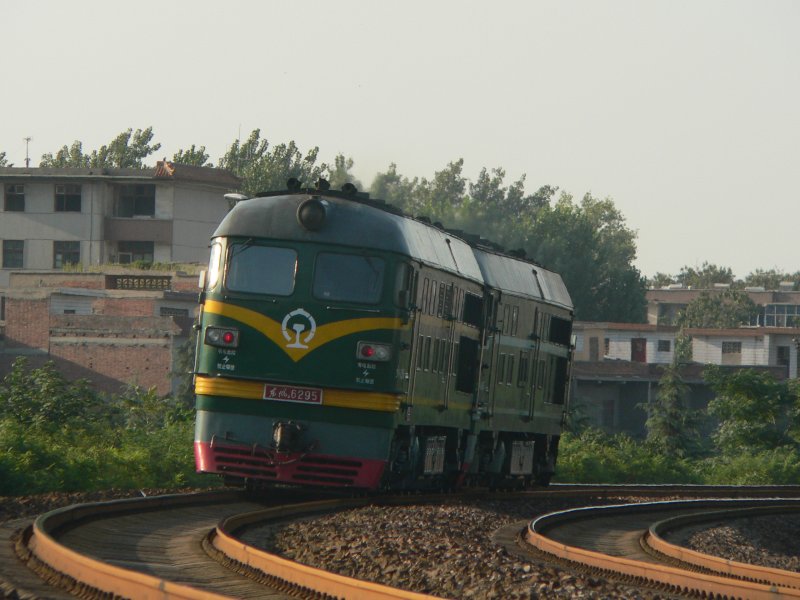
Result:
M0 496L208 485L193 471L192 412L155 389L103 398L52 363L15 361L0 386Z

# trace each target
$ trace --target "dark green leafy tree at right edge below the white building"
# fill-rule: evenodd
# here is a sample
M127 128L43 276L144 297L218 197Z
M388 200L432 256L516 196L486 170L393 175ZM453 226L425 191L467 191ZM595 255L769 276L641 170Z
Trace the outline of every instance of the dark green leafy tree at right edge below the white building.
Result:
M726 371L717 365L705 368L704 377L715 398L708 412L720 424L714 441L723 453L798 447L798 396L794 384L777 381L756 369Z

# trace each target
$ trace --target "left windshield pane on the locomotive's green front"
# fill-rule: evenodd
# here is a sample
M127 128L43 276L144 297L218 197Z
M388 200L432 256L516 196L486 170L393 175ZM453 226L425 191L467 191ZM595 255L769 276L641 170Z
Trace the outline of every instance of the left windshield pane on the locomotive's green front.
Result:
M233 244L225 279L232 292L289 296L294 291L297 253L291 248Z

